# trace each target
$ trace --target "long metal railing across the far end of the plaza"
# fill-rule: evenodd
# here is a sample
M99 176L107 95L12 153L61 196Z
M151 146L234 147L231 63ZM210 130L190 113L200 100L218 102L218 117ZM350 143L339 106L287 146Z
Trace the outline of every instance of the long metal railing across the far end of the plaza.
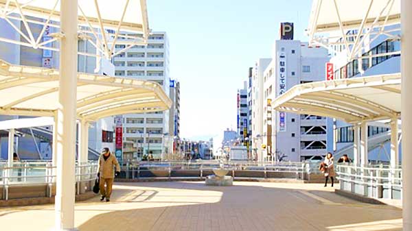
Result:
M209 161L125 161L121 178L199 178L213 174L213 169L220 168L217 160ZM229 169L228 175L234 178L296 178L304 180L306 173L319 173L318 162L247 162L229 161L224 164ZM284 173L284 175L280 174Z

